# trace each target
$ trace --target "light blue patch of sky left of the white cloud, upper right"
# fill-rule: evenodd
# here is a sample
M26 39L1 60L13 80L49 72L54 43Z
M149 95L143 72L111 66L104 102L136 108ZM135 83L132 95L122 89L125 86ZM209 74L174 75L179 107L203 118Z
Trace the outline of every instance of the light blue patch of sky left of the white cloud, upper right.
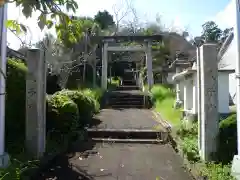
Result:
M224 10L230 0L139 0L136 2L141 11L151 12L152 16L160 13L165 23L179 21L179 25L189 28L191 33L196 35L201 32L201 25Z

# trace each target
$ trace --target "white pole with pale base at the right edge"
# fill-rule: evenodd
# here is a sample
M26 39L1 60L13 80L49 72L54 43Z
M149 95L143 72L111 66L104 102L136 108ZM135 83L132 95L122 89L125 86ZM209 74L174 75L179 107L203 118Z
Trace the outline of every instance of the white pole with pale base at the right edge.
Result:
M236 97L237 97L237 147L238 154L233 158L232 175L240 179L240 2L235 0L236 25L234 27L234 38L237 41L236 46Z

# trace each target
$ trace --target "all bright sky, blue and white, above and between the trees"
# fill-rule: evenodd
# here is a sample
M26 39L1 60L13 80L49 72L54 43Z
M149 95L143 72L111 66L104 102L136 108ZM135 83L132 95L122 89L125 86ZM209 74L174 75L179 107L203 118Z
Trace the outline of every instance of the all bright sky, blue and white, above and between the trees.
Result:
M124 11L124 0L76 0L79 3L77 15L94 16L99 10L107 10L114 14L114 8ZM141 22L155 21L156 15L161 17L161 22L167 28L186 29L192 36L201 33L201 25L208 20L215 20L221 27L230 26L233 23L233 0L132 0ZM28 41L40 40L44 32L41 32L36 23L37 13L31 19L25 19L15 5L9 5L9 19L18 19L26 24L31 33L25 37ZM13 13L14 12L14 13ZM120 12L121 13L121 12ZM131 19L131 15L124 20ZM124 21L123 21L124 22ZM12 34L8 34L10 46L17 49L19 40Z

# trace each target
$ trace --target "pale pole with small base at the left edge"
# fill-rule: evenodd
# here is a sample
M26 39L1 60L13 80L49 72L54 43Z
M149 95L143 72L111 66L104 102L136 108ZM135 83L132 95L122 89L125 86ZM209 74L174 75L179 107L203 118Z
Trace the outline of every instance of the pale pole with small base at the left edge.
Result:
M6 65L7 65L7 28L4 25L7 20L7 3L0 7L0 33L1 33L1 57L0 57L0 168L7 167L9 156L5 153L5 94L6 94Z

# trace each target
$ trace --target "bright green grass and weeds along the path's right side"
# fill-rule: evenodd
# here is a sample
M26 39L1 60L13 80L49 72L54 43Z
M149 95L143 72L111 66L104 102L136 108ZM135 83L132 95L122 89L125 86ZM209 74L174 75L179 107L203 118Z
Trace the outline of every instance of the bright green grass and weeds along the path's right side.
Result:
M185 159L189 162L189 168L193 168L193 171L195 171L194 174L200 179L234 180L235 178L231 176L231 165L229 163L223 164L222 161L204 163L201 161L198 150L198 124L196 122L188 124L181 121L181 109L175 109L173 107L175 102L175 93L172 88L164 85L155 85L151 89L151 94L155 110L161 114L164 120L167 120L174 125L173 135L176 135L177 137L178 149L181 150ZM235 123L232 122L232 119L234 118L232 117L228 120L228 129L235 125ZM234 128L236 129L235 126ZM226 140L225 138L225 140L222 139L222 141L229 142L232 135L228 132L233 132L233 130L228 130L227 128L225 129L226 130L221 134L224 137L228 137L228 139ZM225 135L224 133L228 134ZM229 144L225 146L229 147ZM226 153L224 154L226 156Z

